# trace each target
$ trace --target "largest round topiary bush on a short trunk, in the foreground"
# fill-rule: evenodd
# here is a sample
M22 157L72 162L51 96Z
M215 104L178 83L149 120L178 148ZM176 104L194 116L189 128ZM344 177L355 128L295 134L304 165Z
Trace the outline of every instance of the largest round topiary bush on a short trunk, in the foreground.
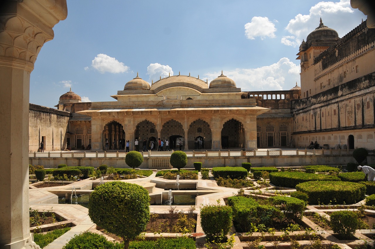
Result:
M92 192L89 200L89 216L96 225L116 234L129 248L150 219L150 196L137 184L110 181Z

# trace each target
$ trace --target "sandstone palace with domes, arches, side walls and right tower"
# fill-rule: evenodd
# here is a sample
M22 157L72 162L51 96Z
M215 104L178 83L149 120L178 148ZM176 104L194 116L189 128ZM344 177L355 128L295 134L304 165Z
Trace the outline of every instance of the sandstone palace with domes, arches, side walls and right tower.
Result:
M375 30L366 21L339 38L320 20L300 45L301 83L287 91L242 92L224 74L208 83L190 75L151 84L138 74L111 102L81 102L72 91L56 109L30 104L29 151L119 150L124 140L168 139L184 150L375 148ZM113 144L115 141L115 144ZM121 141L121 142L120 142ZM157 147L157 146L156 146Z

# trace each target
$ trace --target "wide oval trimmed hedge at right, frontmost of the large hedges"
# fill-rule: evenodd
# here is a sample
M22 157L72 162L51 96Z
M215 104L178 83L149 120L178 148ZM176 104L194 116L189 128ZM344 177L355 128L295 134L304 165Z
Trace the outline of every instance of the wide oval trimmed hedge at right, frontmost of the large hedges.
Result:
M353 204L365 199L366 192L364 184L350 181L308 181L296 189L309 196L310 204Z

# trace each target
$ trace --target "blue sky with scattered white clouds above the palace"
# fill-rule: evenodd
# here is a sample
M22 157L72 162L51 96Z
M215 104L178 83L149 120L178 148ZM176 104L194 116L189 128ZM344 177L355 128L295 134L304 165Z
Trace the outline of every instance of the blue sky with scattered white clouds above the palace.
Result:
M85 101L110 95L139 77L221 74L243 91L300 86L302 39L319 25L340 37L366 20L341 1L84 1L67 0L30 76L30 103L53 107L69 91Z

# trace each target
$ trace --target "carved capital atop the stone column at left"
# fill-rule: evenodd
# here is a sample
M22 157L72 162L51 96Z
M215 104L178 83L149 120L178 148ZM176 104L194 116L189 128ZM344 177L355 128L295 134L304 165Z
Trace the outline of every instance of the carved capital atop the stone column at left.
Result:
M0 12L0 65L31 72L52 27L68 14L66 0L4 0Z

